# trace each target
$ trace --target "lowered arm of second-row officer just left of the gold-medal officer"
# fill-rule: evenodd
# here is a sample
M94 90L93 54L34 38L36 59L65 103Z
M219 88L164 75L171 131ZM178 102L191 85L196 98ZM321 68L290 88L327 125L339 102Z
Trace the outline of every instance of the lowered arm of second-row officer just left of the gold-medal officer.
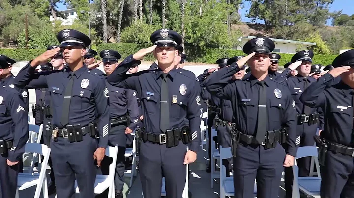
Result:
M138 121L140 117L136 93L133 90L128 89L126 90L125 95L127 100L127 110L130 118L129 128L130 130L135 130L139 123Z

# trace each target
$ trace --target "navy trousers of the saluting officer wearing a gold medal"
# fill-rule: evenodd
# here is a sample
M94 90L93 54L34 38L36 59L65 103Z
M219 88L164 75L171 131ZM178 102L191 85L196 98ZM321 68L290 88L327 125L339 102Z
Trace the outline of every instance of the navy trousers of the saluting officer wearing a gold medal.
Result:
M140 180L144 198L161 198L162 175L165 177L167 198L182 198L186 180L186 165L183 165L186 145L178 146L142 142L139 155Z

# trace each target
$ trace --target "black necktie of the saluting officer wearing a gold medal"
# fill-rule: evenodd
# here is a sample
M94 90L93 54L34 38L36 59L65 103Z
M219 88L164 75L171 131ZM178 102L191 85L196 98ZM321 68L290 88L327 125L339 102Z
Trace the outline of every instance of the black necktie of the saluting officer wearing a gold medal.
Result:
M160 101L160 130L165 133L170 126L170 104L169 104L169 93L167 85L167 75L162 74L161 82L161 101Z

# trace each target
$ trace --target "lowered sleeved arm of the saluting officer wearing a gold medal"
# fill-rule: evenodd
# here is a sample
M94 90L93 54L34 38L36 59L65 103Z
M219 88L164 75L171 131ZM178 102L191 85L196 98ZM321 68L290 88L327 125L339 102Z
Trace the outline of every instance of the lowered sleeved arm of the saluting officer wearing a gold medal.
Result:
M202 121L203 109L201 106L202 99L199 96L198 89L191 89L187 103L187 119L189 120L189 128L191 131L192 142L189 150L197 153L200 144L200 124Z

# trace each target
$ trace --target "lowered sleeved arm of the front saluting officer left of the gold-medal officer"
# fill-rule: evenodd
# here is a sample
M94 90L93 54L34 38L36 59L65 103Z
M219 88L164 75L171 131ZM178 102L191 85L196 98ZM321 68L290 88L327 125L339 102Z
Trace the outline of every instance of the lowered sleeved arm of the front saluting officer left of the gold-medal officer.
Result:
M109 131L109 106L108 98L104 92L107 89L104 79L97 80L94 88L94 102L96 104L96 111L98 113L98 128L99 128L99 147L106 148L108 145L108 131Z

